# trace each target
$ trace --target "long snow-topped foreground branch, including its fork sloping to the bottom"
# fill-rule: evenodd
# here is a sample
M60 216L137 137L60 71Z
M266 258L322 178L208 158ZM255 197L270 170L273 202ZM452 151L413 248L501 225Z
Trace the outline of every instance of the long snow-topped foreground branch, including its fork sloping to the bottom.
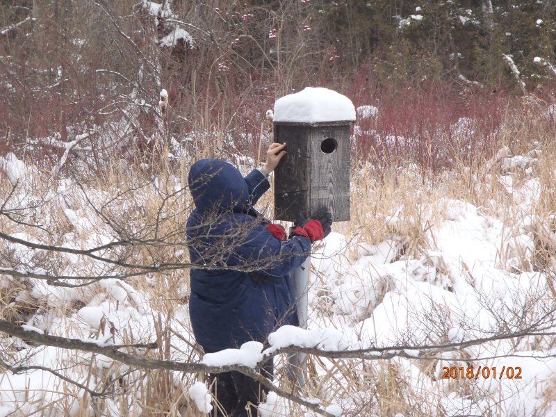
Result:
M143 344L133 344L133 345L111 345L111 343L106 343L106 341L97 341L94 339L77 339L77 338L66 338L60 336L51 336L48 334L42 334L41 332L36 332L33 328L25 328L23 326L15 325L11 322L5 320L0 320L0 332L9 334L10 336L15 336L18 338L23 338L26 341L31 341L33 343L38 343L39 345L61 347L67 350L81 350L84 352L91 352L95 354L102 354L110 359L124 363L128 366L133 366L136 368L145 368L150 370L174 370L181 373L224 373L230 370L243 373L263 386L274 391L277 395L296 402L304 407L307 407L313 411L322 414L323 416L339 416L341 411L338 413L338 407L326 407L322 409L319 403L313 400L307 400L301 398L300 396L293 395L288 391L280 389L275 386L268 379L265 379L260 373L256 371L257 366L268 361L270 357L274 357L277 354L291 354L291 353L307 353L314 354L320 357L325 357L328 359L366 359L366 360L377 360L377 359L392 359L394 357L404 357L408 359L419 358L421 355L426 353L426 359L434 359L432 354L443 352L449 352L453 350L459 350L461 347L468 347L471 345L480 345L487 341L500 341L509 338L515 338L519 336L555 336L554 332L538 332L539 329L534 327L528 327L528 329L522 332L515 332L509 334L496 334L491 337L486 338L476 338L473 340L468 340L464 342L456 343L446 343L442 345L423 345L423 346L410 346L410 345L398 345L389 347L370 347L368 349L361 350L340 350L340 347L345 345L332 343L332 345L323 345L323 336L331 334L333 336L338 336L338 331L331 332L314 332L311 330L296 329L296 334L292 334L291 327L284 327L279 329L274 334L271 334L269 338L271 347L267 350L263 350L262 343L259 342L247 342L240 349L228 349L220 352L215 352L213 354L205 354L204 358L200 363L190 363L182 361L172 361L172 360L157 360L148 359L145 357L139 357L134 354L128 354L122 352L124 348L143 348L143 349L158 349L157 343L143 343ZM291 343L288 344L288 338ZM329 339L330 337L328 337ZM332 337L334 341L337 341L337 337ZM272 345L272 341L277 343L277 345ZM297 345L296 345L297 344ZM287 346L286 346L287 345ZM301 346L298 346L301 345ZM306 347L309 346L309 347ZM329 347L332 350L322 350L319 347ZM521 355L523 357L523 355ZM547 352L546 357L554 356ZM505 355L507 357L507 355ZM477 359L487 359L487 358L477 358ZM25 372L28 367L13 366L9 363L0 363L4 368L10 370L11 372ZM79 383L63 377L63 375L57 375L56 371L53 372L54 375L61 377L67 382L76 384L80 388L83 388ZM89 391L89 389L87 389Z

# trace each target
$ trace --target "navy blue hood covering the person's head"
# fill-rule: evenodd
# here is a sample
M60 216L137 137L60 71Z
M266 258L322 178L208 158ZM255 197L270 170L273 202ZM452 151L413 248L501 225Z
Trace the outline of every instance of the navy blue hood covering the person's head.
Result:
M241 172L226 161L206 158L191 166L188 184L197 210L242 211L248 206L249 188Z

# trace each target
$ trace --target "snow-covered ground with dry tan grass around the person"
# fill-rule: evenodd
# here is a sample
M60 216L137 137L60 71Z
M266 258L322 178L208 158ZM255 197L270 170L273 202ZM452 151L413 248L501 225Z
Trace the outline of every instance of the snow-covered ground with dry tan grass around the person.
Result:
M373 109L365 111L375 114ZM505 191L505 197L496 200L505 205L496 206L494 200L478 206L450 197L421 199L418 213L400 204L389 213L373 213L372 219L360 216L362 224L347 227L344 234L332 233L316 247L311 261L309 329L279 329L270 337L268 350L251 343L202 358L190 332L186 272L102 279L66 288L46 279L10 276L10 268L19 274L93 276L105 275L111 265L83 254L52 254L14 241L1 250L1 318L21 320L29 332L104 346L158 341L163 352L138 347L128 353L212 366L255 366L265 352L288 345L329 352L357 350L351 359L309 359L311 375L304 395L319 400L330 415L556 415L556 305L550 274L555 265L551 256L539 254L536 240L543 231L544 247L550 251L556 235L553 218L543 218L538 210L541 193L546 192L537 170L540 155L540 150L503 154L496 161L498 170L482 179L485 187L496 183ZM109 220L111 209L129 216L122 222L131 222L148 215L153 195L160 201L169 195L160 190L181 189L181 178L170 176L142 187L130 183L136 188L126 195L125 181L120 189L95 188L73 179L51 183L13 155L1 163L3 200L16 186L2 209L17 213L26 208L19 220L47 226L31 234L25 224L4 218L2 231L32 243L74 249L105 245L114 236L103 217ZM356 171L354 177L366 181L368 172ZM480 181L477 177L477 187ZM417 199L420 191L415 193ZM380 198L377 195L368 193L352 204L372 205ZM185 201L186 197L174 200ZM166 202L172 206L172 199ZM93 210L103 203L105 211ZM164 212L166 218L172 213L186 216L186 211L173 209ZM389 233L370 244L356 231L377 219ZM129 227L140 230L139 220ZM416 232L409 233L410 229ZM185 260L183 245L170 249L164 252L168 259ZM75 281L54 282L60 283ZM484 340L458 345L477 339ZM388 348L384 351L391 358L380 359L382 347ZM30 367L19 373L0 367L0 416L42 410L51 415L139 416L154 404L149 398L154 398L153 386L162 378L101 354L10 337L0 338L0 359ZM457 377L450 377L450 371ZM181 404L181 410L184 404L211 410L206 387L196 375L165 377L166 392L181 393L181 400L169 395L169 402ZM88 390L104 395L85 395ZM265 417L314 415L301 410L274 393L260 407Z

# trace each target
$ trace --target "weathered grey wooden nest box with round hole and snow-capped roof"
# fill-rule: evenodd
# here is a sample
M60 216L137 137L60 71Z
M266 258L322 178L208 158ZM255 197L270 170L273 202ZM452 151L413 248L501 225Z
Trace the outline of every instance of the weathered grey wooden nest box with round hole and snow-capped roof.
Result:
M305 88L275 104L274 141L288 152L275 170L275 218L294 222L327 206L350 220L350 128L355 109L326 88Z

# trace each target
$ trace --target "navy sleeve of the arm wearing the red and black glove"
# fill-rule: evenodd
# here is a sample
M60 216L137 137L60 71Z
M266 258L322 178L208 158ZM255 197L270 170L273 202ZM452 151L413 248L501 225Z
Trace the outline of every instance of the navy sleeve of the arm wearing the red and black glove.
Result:
M304 236L279 240L261 225L234 252L228 259L229 266L253 265L263 275L283 277L305 261L311 253L311 242Z

